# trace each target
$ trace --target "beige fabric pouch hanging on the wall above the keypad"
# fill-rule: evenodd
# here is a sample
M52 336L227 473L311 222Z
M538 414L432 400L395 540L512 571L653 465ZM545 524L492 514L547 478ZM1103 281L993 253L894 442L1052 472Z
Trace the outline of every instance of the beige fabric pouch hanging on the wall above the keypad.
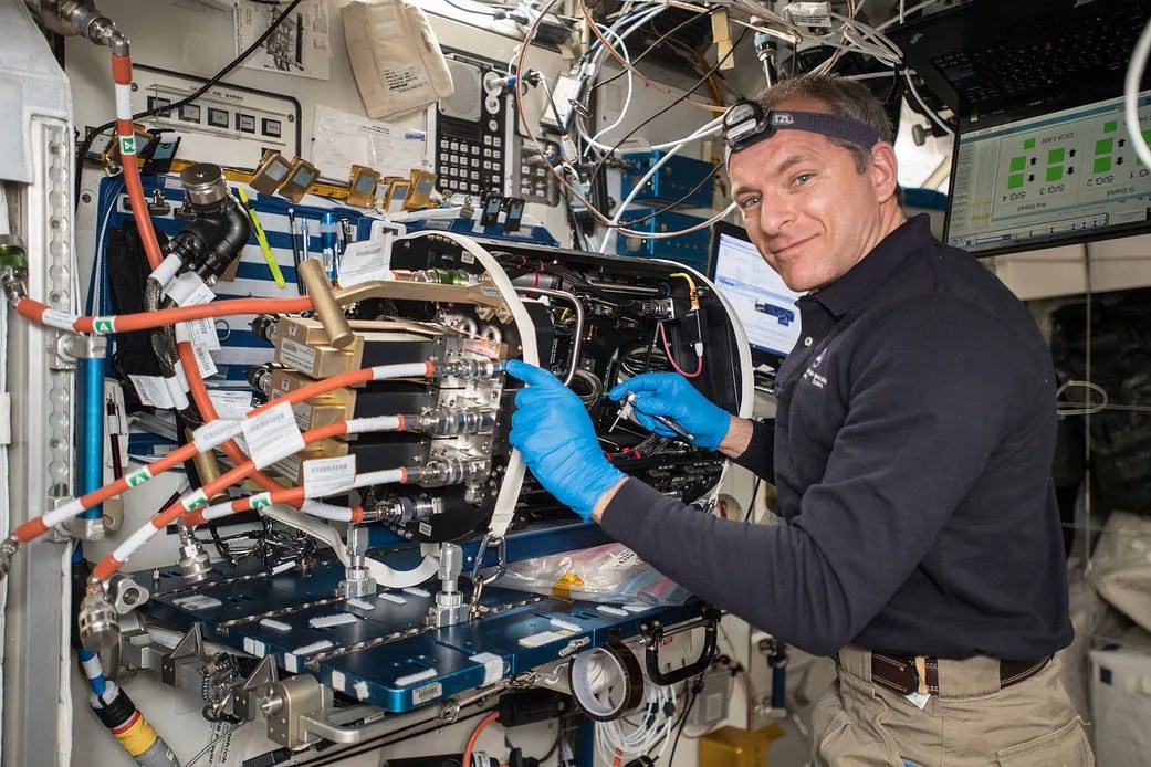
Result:
M368 117L422 109L451 95L451 74L422 10L403 0L357 0L340 14Z

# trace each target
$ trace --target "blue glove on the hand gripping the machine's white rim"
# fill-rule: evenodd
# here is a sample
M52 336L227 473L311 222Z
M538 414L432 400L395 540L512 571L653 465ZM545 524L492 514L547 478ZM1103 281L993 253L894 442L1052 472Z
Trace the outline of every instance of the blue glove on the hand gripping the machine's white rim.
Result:
M608 462L576 392L520 360L510 360L506 370L527 384L516 394L511 444L547 491L587 520L624 473Z

